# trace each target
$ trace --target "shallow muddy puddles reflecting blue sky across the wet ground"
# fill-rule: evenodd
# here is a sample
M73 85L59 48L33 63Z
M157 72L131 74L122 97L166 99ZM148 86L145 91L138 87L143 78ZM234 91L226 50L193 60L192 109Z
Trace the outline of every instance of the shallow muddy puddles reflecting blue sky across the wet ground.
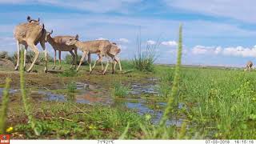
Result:
M152 79L151 81L156 81L156 79ZM151 122L157 124L159 120L162 118L162 113L164 107L166 106L166 102L158 102L154 105L158 105L162 108L159 110L154 110L147 105L147 102L140 98L141 94L150 94L150 95L158 95L158 85L151 84L132 84L130 95L138 95L136 98L122 98L122 101L118 101L119 104L126 106L127 108L136 111L140 115L150 114L152 116ZM102 105L110 105L115 106L117 103L116 99L111 97L110 90L101 89L98 86L90 85L89 83L76 82L78 93L73 95L66 94L54 94L50 90L32 90L30 91L30 97L37 100L44 101L54 101L54 102L67 102L73 101L78 103L86 103L86 104L102 104ZM2 97L2 88L0 88L0 97ZM10 90L10 95L17 94L20 90ZM182 108L182 104L178 105L178 108ZM167 122L167 125L182 125L182 119L171 119Z

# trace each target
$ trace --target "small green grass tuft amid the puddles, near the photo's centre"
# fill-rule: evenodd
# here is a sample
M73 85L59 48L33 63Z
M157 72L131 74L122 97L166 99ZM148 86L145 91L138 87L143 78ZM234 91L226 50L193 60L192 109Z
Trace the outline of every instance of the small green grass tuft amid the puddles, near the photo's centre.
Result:
M121 82L114 83L113 94L114 97L124 98L129 94L130 88L122 85Z

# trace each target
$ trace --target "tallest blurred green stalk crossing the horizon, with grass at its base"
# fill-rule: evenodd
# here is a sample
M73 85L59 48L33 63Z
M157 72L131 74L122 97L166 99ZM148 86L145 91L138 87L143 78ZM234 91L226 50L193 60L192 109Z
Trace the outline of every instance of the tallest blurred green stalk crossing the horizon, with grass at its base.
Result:
M171 86L171 92L167 91L168 101L166 108L162 114L162 118L158 125L156 126L145 126L140 124L145 138L160 138L160 139L170 139L170 138L184 138L186 134L186 122L183 122L182 129L180 131L175 131L176 126L166 126L167 120L170 118L170 114L174 112L174 100L178 98L178 89L180 82L180 66L182 63L182 25L179 26L179 38L178 38L178 54L177 63L174 71L174 82ZM167 78L168 80L171 80Z

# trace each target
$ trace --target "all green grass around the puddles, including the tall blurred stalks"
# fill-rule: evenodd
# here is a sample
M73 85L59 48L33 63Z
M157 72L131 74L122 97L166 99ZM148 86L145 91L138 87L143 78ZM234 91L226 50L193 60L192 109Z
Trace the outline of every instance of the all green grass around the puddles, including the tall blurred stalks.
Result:
M154 110L162 110L162 107L156 103L168 99L166 110L162 110L162 119L156 125L150 122L150 114L146 114L144 118L134 111L127 110L125 106L92 106L69 101L65 103L28 101L24 71L21 70L22 102L28 118L24 116L23 106L15 100L10 113L20 119L18 122L10 122L14 123L14 136L15 138L18 137L17 135L23 135L23 138L79 139L255 139L256 72L248 73L240 69L182 67L181 61L182 26L179 30L178 57L175 67L154 66L154 73L145 72L149 70L134 70L129 74L105 76L82 76L72 70L66 70L59 77L61 82L65 81L65 83L70 82L71 78L63 77L76 77L77 80L96 83L106 90L113 87L112 94L122 102L126 101L130 82L159 78L158 96L139 95L137 97L146 100L146 105ZM126 69L133 69L133 64L129 61L122 62ZM43 66L40 69L42 70ZM118 82L111 82L115 77L118 77ZM56 92L74 94L75 89L75 83L70 82L65 90L56 90ZM72 94L71 96L74 96ZM3 102L6 103L6 101ZM30 102L34 102L33 109L30 108ZM178 107L178 104L182 104L182 108ZM6 104L2 106L4 108ZM2 111L4 111L3 115L6 114L6 109ZM8 119L6 117L6 115L1 116L1 119ZM34 118L37 118L36 122ZM166 126L170 118L182 118L182 126Z

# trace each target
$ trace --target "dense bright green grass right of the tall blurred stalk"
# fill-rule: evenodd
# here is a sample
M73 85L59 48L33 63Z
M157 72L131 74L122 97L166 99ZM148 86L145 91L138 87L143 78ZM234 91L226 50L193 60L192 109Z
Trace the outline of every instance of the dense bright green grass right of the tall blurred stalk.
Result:
M256 138L254 72L186 69L182 75L180 101L195 129L210 138Z

